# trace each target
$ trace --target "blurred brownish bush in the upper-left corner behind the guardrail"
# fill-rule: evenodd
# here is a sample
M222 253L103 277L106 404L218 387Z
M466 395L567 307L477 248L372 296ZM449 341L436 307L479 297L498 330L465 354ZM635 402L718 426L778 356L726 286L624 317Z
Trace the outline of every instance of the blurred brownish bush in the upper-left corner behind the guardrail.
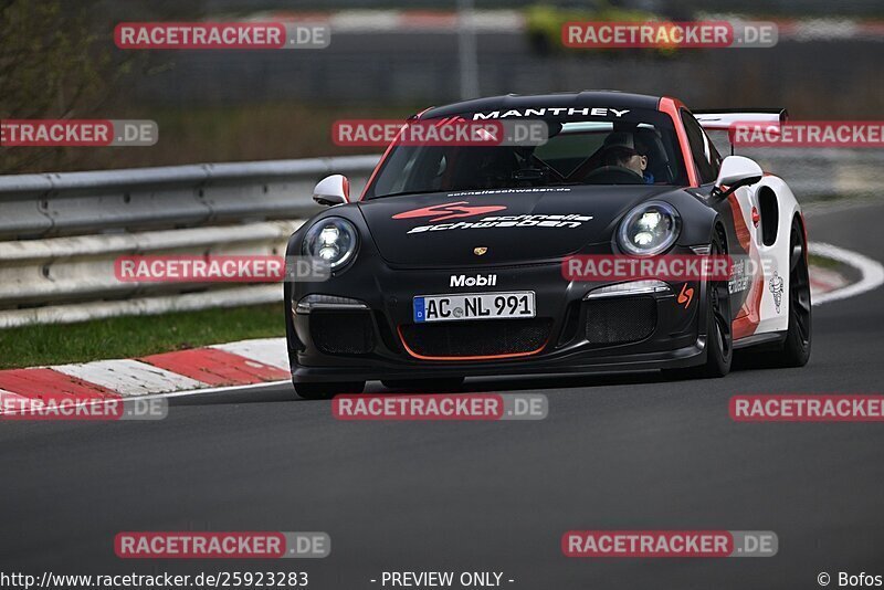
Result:
M0 0L0 119L110 118L108 104L125 76L167 59L117 50L114 27L194 18L200 4ZM0 146L0 173L70 168L84 149Z

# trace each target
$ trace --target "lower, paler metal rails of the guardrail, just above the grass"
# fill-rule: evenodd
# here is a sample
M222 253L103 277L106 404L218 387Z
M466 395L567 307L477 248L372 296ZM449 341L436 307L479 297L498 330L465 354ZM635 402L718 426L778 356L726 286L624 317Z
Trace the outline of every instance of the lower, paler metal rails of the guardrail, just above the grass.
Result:
M0 328L281 301L280 284L123 282L118 256L278 255L302 220L0 242Z

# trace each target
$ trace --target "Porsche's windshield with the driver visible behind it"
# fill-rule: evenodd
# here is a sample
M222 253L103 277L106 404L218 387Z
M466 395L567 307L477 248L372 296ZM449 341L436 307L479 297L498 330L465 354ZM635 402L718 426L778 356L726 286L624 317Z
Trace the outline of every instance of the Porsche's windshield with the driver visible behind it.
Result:
M534 118L549 130L546 143L536 146L394 145L366 198L523 187L687 185L672 119L653 109L618 113Z

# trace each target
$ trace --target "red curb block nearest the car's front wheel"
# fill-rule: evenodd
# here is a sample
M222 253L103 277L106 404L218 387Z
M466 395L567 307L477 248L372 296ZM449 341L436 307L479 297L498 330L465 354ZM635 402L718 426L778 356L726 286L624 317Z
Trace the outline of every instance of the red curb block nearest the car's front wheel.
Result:
M138 359L211 386L246 386L291 378L288 371L217 348L196 348Z

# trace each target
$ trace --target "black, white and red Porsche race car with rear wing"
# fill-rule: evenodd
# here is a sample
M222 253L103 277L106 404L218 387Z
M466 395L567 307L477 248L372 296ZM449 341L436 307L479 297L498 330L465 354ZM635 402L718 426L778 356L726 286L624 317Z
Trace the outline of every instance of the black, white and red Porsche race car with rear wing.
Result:
M407 125L543 122L541 141L394 140L361 196L340 175L286 256L292 378L305 398L456 390L478 376L672 370L722 377L735 349L807 364L811 302L801 209L780 178L722 157L707 130L786 112L696 112L619 92L506 95ZM404 127L403 127L404 128ZM733 154L733 146L732 146ZM580 257L730 261L726 273L582 280ZM743 354L740 351L739 354Z

